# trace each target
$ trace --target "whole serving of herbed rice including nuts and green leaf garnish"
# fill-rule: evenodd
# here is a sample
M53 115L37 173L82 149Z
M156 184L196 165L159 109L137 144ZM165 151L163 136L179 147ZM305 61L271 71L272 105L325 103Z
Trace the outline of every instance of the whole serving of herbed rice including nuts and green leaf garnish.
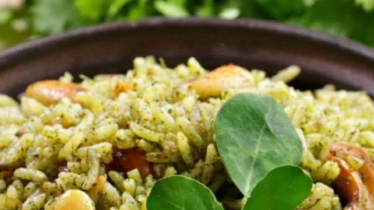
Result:
M0 209L370 209L373 101L296 90L299 72L147 57L123 75L35 83L20 102L0 95Z

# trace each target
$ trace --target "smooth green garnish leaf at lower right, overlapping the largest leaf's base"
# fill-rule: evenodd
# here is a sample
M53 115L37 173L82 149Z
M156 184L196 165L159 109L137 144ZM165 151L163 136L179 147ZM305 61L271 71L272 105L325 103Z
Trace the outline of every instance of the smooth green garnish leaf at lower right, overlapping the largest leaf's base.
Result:
M275 168L256 185L243 210L294 210L310 194L312 184L300 167Z

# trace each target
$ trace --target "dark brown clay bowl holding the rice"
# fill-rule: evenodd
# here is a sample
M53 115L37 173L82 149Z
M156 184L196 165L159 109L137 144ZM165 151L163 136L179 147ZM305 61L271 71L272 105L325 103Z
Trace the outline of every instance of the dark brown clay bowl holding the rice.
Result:
M358 43L274 22L239 19L147 19L99 25L21 44L0 53L0 93L23 92L37 80L125 72L136 56L163 58L169 67L191 56L206 68L224 64L270 75L299 65L292 85L365 90L374 96L374 51Z

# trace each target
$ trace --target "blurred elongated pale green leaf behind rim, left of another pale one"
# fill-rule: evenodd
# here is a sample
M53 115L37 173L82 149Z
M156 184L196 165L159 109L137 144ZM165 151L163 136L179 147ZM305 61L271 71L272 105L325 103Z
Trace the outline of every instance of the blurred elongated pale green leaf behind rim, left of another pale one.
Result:
M169 18L183 18L190 15L186 8L171 2L156 1L154 7L162 15Z

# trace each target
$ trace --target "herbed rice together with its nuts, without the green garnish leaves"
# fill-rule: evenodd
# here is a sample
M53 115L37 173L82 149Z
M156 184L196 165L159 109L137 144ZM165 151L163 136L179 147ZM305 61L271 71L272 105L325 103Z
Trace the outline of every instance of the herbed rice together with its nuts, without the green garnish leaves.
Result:
M208 72L193 58L170 69L147 57L123 75L39 81L19 103L1 95L0 207L145 210L157 180L183 175L240 209L246 199L220 157L215 121L227 101L251 93L275 100L300 141L298 166L313 186L297 209L370 209L373 101L332 85L296 90L286 83L299 72Z

